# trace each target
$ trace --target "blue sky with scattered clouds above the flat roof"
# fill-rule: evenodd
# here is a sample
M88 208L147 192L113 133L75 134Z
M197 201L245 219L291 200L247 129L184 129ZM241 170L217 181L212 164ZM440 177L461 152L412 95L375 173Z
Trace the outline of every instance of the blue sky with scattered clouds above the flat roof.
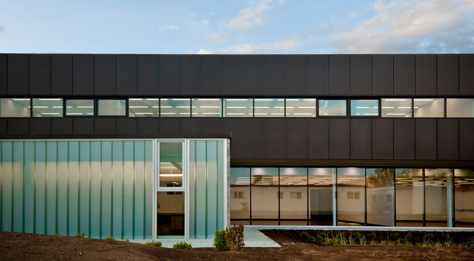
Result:
M0 53L474 53L474 0L0 0Z

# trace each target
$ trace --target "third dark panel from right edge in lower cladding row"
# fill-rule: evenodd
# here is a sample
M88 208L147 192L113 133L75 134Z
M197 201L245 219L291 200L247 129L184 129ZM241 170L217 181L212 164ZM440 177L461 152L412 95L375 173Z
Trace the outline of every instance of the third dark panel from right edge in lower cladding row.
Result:
M436 160L436 119L415 119L415 159Z

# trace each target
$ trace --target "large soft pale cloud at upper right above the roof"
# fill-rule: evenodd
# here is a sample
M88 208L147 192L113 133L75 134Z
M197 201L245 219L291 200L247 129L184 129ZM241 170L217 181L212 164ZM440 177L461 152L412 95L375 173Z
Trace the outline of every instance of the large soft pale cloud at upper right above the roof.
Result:
M397 0L372 4L376 15L330 36L337 53L474 51L474 1Z

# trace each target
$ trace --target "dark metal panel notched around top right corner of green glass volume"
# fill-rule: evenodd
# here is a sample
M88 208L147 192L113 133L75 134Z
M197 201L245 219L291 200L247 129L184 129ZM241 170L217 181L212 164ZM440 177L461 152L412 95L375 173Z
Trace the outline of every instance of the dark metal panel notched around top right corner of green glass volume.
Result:
M224 133L230 133L230 158L244 158L244 121L243 119L224 118Z

